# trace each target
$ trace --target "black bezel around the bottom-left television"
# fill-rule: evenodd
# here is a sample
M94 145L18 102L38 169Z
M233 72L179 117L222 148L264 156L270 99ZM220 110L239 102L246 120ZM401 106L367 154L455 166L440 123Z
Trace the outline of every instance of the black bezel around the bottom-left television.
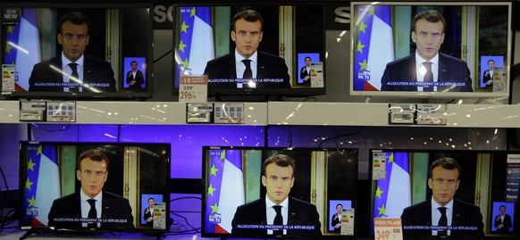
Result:
M32 142L32 141L20 141L19 144L19 150L20 150L20 183L19 183L19 189L25 189L25 179L27 178L27 146L29 145L113 145L113 146L147 146L147 145L156 145L156 146L163 146L164 149L166 149L166 155L167 157L167 164L171 165L172 163L172 144L170 143L122 143L122 142ZM25 238L26 236L29 236L33 233L42 233L42 232L54 232L54 233L78 233L78 234L100 234L100 233L114 233L114 232L120 232L120 233L140 233L140 234L149 234L154 236L163 236L164 234L167 234L170 232L170 225L171 222L171 168L166 168L167 175L164 176L164 182L166 184L166 191L164 192L164 198L163 201L166 203L166 228L165 229L153 229L153 228L132 228L132 229L104 229L104 228L55 228L55 227L35 227L35 226L21 226L20 220L23 218L24 214L21 212L24 207L24 201L19 201L17 210L19 212L18 219L20 219L18 222L17 228L20 230L26 230L26 234L21 237L21 239ZM77 180L77 179L76 179ZM20 199L24 199L24 191L21 190L19 192ZM138 212L140 209L138 210ZM140 219L137 218L137 216L133 216L134 219L137 219L138 222L140 222Z

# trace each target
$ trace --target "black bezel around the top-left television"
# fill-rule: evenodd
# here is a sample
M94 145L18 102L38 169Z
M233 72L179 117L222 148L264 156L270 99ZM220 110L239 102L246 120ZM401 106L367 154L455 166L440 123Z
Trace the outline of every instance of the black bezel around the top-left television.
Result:
M147 81L147 89L143 91L135 91L130 92L129 90L124 90L122 87L124 86L125 81L125 72L123 72L125 66L122 56L117 56L121 58L118 60L121 62L121 76L122 79L119 79L116 87L119 90L115 93L104 92L104 93L69 93L69 92L1 92L0 99L48 99L48 100L139 100L139 99L147 99L152 97L153 95L153 83L154 83L154 5L146 4L146 3L126 3L126 4L116 4L116 3L58 3L58 2L50 2L50 3L41 3L41 2L21 2L21 3L0 3L0 10L4 8L49 8L49 9L147 9L148 10L148 27L147 32L143 33L147 36L147 41L149 45L147 46L147 72L145 79ZM0 21L1 25L1 21ZM0 40L3 41L3 39ZM121 41L121 40L120 40ZM88 46L87 46L88 47ZM119 46L115 46L115 48L119 48ZM4 53L4 46L0 46L2 53ZM124 53L122 53L124 54ZM1 58L3 59L3 57ZM105 59L105 58L103 58ZM45 59L44 59L45 60ZM42 60L43 61L43 60ZM114 78L117 77L118 70L114 71ZM0 82L0 87L2 83Z

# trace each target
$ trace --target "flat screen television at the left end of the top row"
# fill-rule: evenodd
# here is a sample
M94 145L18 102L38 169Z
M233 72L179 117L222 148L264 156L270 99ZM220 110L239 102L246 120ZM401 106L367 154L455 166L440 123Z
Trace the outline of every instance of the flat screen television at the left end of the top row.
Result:
M138 99L152 95L151 4L13 2L0 7L2 97ZM71 12L82 13L90 27L81 27L88 25L78 15L65 24L78 22L70 27L80 32L64 29L69 25L58 26ZM79 64L77 76L68 62Z

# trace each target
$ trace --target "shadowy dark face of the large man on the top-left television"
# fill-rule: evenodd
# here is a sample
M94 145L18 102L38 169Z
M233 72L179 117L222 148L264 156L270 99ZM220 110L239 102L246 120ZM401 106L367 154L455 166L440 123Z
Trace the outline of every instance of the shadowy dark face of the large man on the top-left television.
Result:
M65 21L62 32L58 33L58 42L62 45L63 54L71 62L76 62L85 52L88 45L87 24L76 25Z

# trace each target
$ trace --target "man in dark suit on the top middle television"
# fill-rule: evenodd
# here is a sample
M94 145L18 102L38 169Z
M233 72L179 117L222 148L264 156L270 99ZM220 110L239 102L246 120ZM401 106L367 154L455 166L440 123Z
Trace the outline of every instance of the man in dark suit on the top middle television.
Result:
M231 20L235 51L206 63L211 88L290 87L285 61L257 51L263 37L264 20L253 10L237 13Z

